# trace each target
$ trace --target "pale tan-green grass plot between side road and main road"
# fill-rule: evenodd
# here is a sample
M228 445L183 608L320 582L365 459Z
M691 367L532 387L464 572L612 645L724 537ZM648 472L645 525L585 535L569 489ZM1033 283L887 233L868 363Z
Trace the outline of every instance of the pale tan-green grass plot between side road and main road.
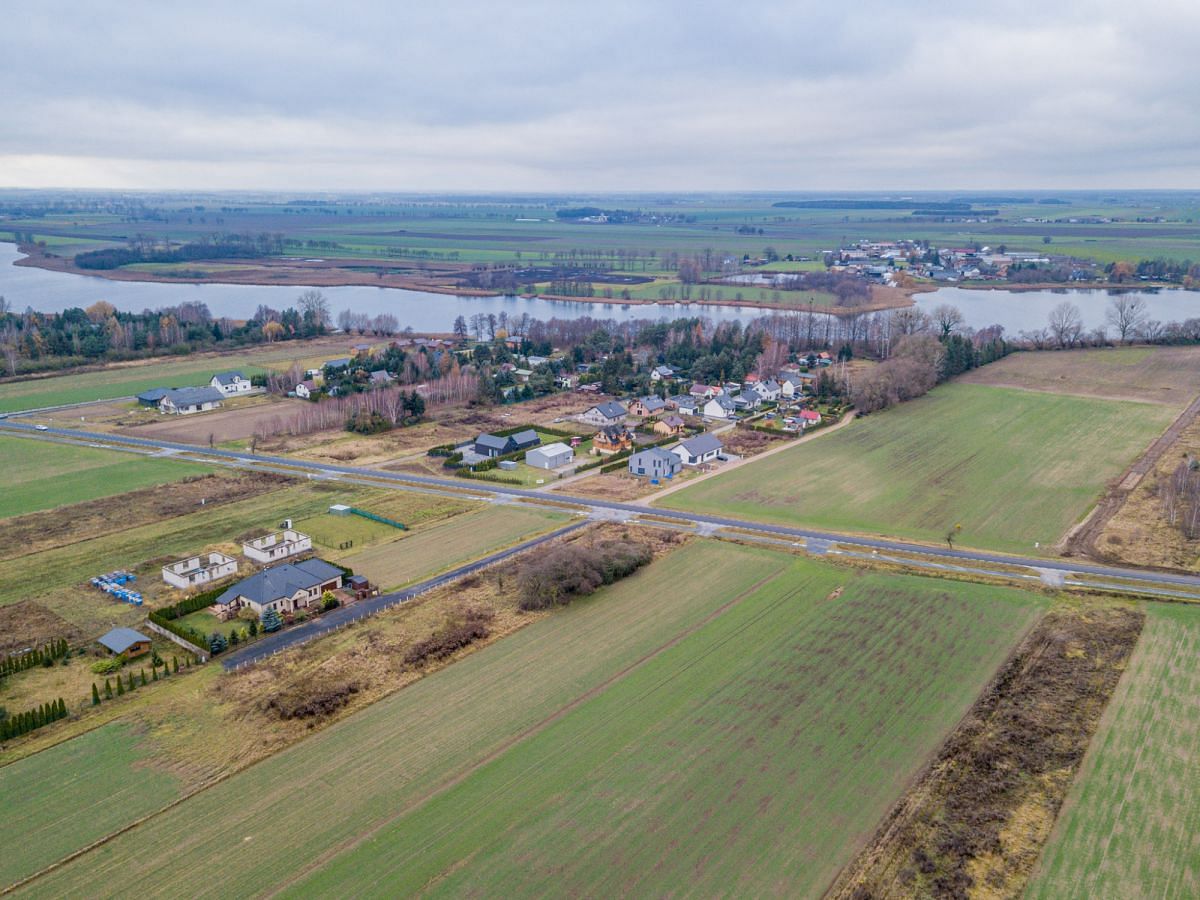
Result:
M452 569L536 532L563 524L566 515L533 506L487 506L349 556L332 554L373 584L392 590ZM365 520L364 520L365 521ZM395 530L395 529L392 529Z

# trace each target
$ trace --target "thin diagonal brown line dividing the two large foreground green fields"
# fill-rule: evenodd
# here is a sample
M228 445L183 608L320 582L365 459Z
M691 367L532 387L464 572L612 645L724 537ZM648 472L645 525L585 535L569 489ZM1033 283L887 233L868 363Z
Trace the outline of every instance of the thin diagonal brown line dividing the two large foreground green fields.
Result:
M372 826L367 830L365 830L365 832L355 835L353 839L350 839L348 841L342 841L342 844L340 844L340 845L335 845L332 847L329 847L318 858L313 859L311 863L308 863L304 868L296 870L292 875L292 877L289 877L287 881L277 884L274 889L271 889L270 892L268 892L265 894L265 896L277 896L280 893L282 893L282 892L287 890L288 888L293 887L294 884L298 884L299 882L301 882L310 874L319 871L328 863L332 862L337 857L342 856L346 852L353 851L355 847L360 846L362 842L365 842L367 840L371 840L374 835L377 835L384 828L388 828L389 826L391 826L398 818L408 815L409 812L412 812L412 811L414 811L416 809L420 809L421 806L424 806L425 804L427 804L433 798L436 798L439 794L443 794L446 791L450 791L454 787L456 787L457 785L462 784L463 781L466 781L468 778L470 778L473 774L475 774L478 770L480 770L485 766L487 766L487 764L494 762L496 760L500 758L504 754L506 754L514 746L517 746L518 744L524 743L529 738L532 738L532 737L541 733L542 731L545 731L546 728L548 728L554 722L562 720L569 713L574 712L575 709L577 709L581 706L583 706L584 703L587 703L589 700L594 700L595 697L599 697L601 694L606 692L614 684L617 684L618 682L622 682L625 678L628 678L634 671L641 668L642 666L644 666L646 664L648 664L649 661L652 661L656 656L660 656L661 654L666 653L672 647L677 646L679 642L682 642L685 638L690 637L691 635L696 634L700 629L704 628L706 625L708 625L713 620L720 618L724 613L728 612L732 607L737 606L743 600L745 600L745 598L748 598L748 596L757 593L766 584L769 584L772 581L774 581L775 578L780 577L788 568L790 566L786 565L786 564L781 565L776 571L774 571L770 575L767 575L767 576L760 578L758 581L756 581L750 587L745 588L743 592L740 592L736 596L733 596L730 600L727 600L726 602L721 604L721 606L719 606L718 608L715 608L712 612L707 613L700 620L694 622L691 625L688 625L684 630L679 631L678 634L676 634L674 636L672 636L666 642L659 644L658 647L652 648L650 650L647 650L644 654L642 654L636 660L634 660L632 662L630 662L626 666L624 666L620 671L614 672L613 674L611 674L608 678L606 678L605 680L602 680L600 684L593 685L592 688L589 688L588 690L586 690L583 694L578 695L574 700L568 701L562 707L559 707L554 712L547 714L546 716L544 716L539 721L534 722L533 725L526 727L524 730L522 730L517 734L514 734L512 737L510 737L510 738L500 742L491 751L488 751L485 756L482 756L481 758L479 758L478 761L475 761L474 763L472 763L470 766L468 766L466 769L462 769L456 775L450 776L449 779L444 780L442 784L436 785L434 787L432 787L428 791L424 792L421 796L415 797L409 803L404 804L404 806L402 809L392 812L390 816L388 816L386 818L382 820L380 822L377 822L374 826Z

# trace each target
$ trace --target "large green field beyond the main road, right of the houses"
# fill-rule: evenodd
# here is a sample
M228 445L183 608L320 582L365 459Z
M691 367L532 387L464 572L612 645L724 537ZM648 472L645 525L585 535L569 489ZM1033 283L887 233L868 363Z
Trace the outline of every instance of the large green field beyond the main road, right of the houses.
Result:
M662 505L762 522L1048 548L1165 428L1152 403L947 384Z

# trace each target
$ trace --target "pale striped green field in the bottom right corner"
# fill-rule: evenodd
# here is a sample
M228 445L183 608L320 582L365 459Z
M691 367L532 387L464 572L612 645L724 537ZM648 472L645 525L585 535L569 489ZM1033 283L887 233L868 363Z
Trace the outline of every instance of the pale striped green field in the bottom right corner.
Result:
M1031 898L1200 896L1200 608L1146 613Z

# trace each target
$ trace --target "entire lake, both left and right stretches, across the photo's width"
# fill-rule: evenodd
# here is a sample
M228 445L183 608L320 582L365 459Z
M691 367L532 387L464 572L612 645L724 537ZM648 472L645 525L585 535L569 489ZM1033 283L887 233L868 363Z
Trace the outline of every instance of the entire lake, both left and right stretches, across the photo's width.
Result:
M305 290L300 286L282 284L173 284L162 282L108 281L88 275L50 272L44 269L17 266L20 258L13 244L0 242L0 296L7 298L14 310L32 307L38 312L60 312L72 306L85 307L107 300L119 310L140 312L185 301L208 304L214 316L245 319L259 304L277 310L295 304ZM758 277L758 276L749 276ZM700 306L689 304L654 304L620 306L618 304L566 302L520 296L454 296L422 290L397 290L366 286L319 288L329 298L334 316L342 310L354 310L371 316L391 313L401 326L415 331L450 331L456 316L468 320L475 313L506 312L511 316L529 313L539 319L574 319L590 316L596 319L673 319L680 316L702 316L714 322L750 322L768 314L767 310L749 306ZM1139 292L1146 299L1151 318L1180 322L1200 316L1200 292L1157 290ZM917 294L917 305L931 310L952 304L962 311L972 328L1003 325L1009 335L1042 328L1050 310L1070 300L1084 314L1084 324L1097 328L1104 324L1111 292L1108 290L970 290L946 287Z

